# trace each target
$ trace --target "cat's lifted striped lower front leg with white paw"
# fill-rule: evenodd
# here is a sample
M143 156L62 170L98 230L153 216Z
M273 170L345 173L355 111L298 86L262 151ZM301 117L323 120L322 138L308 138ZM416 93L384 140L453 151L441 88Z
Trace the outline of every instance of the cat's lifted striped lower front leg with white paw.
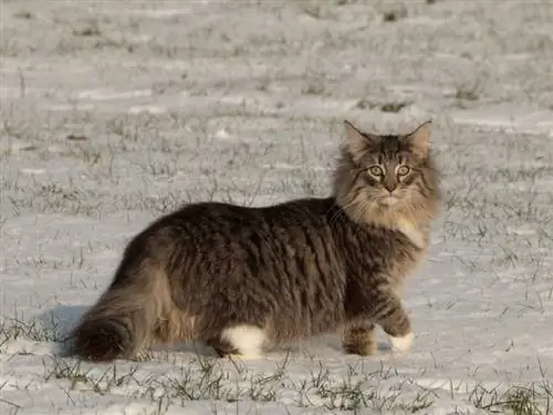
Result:
M411 349L413 331L409 317L393 290L378 291L374 321L388 334L392 350L406 352Z

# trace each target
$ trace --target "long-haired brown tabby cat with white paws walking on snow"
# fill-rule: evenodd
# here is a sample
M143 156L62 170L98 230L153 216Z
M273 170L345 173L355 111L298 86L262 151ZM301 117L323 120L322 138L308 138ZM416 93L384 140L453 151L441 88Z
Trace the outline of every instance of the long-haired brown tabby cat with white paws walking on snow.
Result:
M431 121L403 135L344 121L332 196L273 206L194 203L126 246L107 290L72 331L84 360L133 359L154 344L200 342L220 357L333 332L345 353L413 343L400 300L439 215Z

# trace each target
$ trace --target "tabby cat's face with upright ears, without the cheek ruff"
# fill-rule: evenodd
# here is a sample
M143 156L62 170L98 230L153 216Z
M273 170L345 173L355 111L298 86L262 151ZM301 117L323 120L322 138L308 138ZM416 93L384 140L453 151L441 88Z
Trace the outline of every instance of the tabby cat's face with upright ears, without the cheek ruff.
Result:
M398 207L428 193L430 123L407 135L375 135L345 123L344 152L357 203Z

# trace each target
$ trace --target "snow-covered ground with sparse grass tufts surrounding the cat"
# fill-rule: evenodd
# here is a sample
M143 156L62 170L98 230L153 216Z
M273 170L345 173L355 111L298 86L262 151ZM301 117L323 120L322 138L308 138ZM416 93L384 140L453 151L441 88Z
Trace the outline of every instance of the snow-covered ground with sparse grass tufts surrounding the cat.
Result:
M371 6L367 6L371 4ZM1 12L0 413L553 413L553 3L15 1ZM326 195L349 118L432 118L447 200L410 353L261 361L59 340L187 200Z

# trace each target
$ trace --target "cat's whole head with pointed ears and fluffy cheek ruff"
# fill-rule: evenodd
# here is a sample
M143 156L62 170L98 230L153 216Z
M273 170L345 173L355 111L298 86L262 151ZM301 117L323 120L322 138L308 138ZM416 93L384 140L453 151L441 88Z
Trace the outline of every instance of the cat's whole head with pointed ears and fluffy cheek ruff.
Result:
M434 216L440 195L430 126L428 121L405 135L379 135L346 121L334 183L338 204L359 219L394 211L415 217L420 209Z

